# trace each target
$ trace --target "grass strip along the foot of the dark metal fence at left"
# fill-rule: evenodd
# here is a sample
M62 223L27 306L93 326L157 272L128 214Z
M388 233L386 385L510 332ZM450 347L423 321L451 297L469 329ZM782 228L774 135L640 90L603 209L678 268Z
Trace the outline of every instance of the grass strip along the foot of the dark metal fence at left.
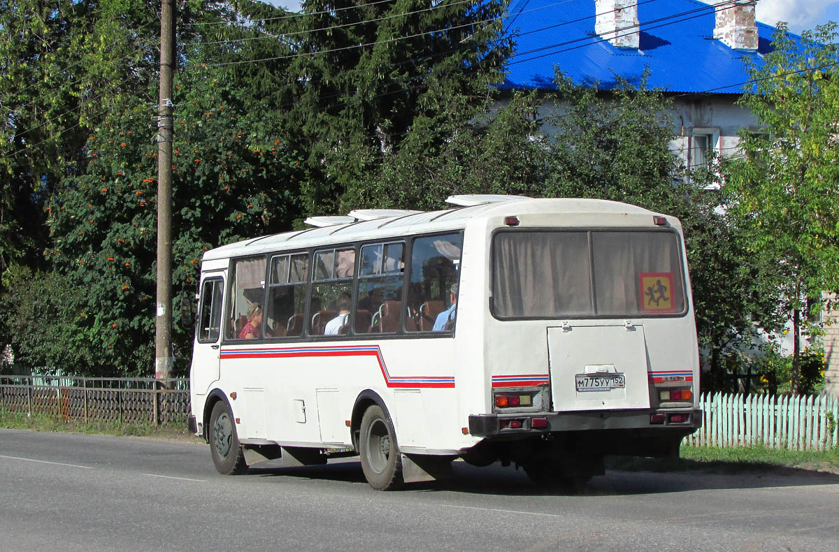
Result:
M79 420L64 421L51 414L18 412L0 412L0 428L8 430L34 431L69 431L93 435L117 435L132 437L155 437L159 439L193 440L192 435L184 424L161 424L151 422L137 422L121 424L119 422L83 422Z

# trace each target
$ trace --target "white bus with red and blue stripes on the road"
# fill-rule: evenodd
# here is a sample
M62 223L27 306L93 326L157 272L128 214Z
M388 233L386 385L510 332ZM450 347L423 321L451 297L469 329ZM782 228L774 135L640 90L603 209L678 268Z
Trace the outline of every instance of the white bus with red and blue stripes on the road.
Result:
M456 195L352 211L201 263L190 428L221 473L361 457L376 489L462 458L584 482L701 423L680 222Z

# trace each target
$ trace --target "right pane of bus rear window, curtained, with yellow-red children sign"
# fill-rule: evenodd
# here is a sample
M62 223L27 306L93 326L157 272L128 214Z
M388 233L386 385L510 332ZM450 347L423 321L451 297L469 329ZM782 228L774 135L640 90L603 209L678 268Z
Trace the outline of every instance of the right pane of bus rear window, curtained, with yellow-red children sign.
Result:
M685 310L673 232L592 232L591 242L598 315Z

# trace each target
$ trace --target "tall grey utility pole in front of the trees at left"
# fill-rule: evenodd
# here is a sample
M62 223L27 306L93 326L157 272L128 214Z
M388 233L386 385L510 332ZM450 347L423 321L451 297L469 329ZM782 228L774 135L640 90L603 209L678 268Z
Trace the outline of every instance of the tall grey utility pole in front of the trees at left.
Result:
M175 0L160 3L160 102L158 107L158 269L154 378L172 370L172 74L175 63ZM164 383L165 386L165 383Z

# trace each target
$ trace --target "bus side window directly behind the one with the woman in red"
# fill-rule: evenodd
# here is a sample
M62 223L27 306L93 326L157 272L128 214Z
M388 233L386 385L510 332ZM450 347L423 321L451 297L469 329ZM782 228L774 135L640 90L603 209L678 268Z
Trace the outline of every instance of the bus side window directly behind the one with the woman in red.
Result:
M303 334L309 254L275 255L268 281L268 320L273 337Z

